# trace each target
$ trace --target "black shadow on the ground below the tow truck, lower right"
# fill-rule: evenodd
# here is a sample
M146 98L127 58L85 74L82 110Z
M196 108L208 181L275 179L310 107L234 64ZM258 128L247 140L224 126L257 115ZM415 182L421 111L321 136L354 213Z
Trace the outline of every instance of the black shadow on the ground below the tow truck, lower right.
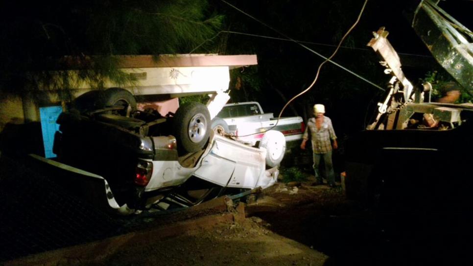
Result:
M327 254L326 265L419 265L464 262L471 215L370 211L341 189L299 188L300 196L271 195L279 206L248 206L273 232ZM264 199L264 195L263 195Z

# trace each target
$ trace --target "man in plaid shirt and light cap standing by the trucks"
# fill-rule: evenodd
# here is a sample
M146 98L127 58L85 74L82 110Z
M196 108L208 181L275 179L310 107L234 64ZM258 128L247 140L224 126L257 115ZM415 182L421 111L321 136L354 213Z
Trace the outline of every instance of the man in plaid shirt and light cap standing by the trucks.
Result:
M338 148L337 136L333 130L332 121L329 117L324 116L325 106L322 104L314 105L314 116L307 122L306 131L304 132L301 149L306 149L306 142L308 139L308 131L310 130L310 138L312 141L312 151L314 159L315 178L318 185L323 184L322 176L320 175L319 166L320 158L324 158L325 174L327 175L327 182L329 186L335 186L335 173L333 172L332 164L332 145L333 149ZM333 144L331 143L333 142Z

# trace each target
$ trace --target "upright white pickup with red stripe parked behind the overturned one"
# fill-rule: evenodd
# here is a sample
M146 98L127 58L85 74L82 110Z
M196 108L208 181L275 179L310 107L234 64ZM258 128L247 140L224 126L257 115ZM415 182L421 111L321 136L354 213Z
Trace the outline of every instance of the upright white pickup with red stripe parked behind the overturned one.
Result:
M269 129L280 131L286 139L287 152L301 144L305 130L302 117L283 117L278 122L273 113L264 113L258 102L226 104L213 119L212 128L216 127L252 144L260 141Z

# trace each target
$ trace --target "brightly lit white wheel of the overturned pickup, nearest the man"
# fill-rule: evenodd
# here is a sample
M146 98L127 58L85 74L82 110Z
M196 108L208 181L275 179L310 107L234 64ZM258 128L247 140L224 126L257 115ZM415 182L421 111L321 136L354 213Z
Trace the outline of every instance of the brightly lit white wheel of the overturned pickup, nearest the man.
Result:
M260 140L258 147L265 148L266 153L266 165L269 167L278 166L283 160L284 153L286 151L286 139L284 134L270 130L264 133L263 138Z

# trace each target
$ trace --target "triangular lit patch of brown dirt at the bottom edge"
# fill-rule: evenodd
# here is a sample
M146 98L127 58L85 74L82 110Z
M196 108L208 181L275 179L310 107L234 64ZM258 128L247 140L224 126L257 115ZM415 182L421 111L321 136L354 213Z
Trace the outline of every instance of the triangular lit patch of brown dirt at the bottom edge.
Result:
M259 219L137 246L97 265L324 265L327 256L271 232Z

